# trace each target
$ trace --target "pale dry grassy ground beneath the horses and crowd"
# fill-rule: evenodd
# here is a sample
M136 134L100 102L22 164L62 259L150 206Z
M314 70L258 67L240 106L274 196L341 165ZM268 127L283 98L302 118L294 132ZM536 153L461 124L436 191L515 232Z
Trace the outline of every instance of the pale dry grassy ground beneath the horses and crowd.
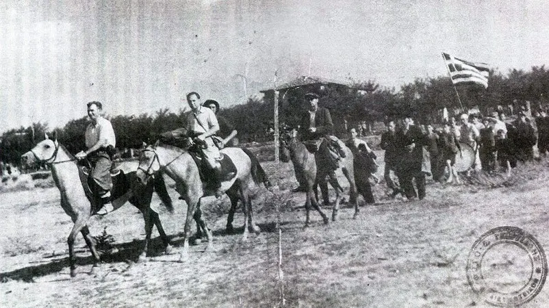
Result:
M363 205L360 199L363 206L357 220L352 219L353 209L344 205L339 221L324 225L313 213L307 229L303 229L305 196L290 192L296 185L292 166L263 165L273 179L280 175L281 190L274 194L262 190L254 203L263 230L259 235L242 241L240 210L235 217L240 229L233 235L225 233L229 200L209 198L203 211L214 231L214 251L203 253L205 244L197 244L179 263L181 242L174 241L176 254L164 255L155 231L151 257L136 263L144 224L138 210L126 205L105 218L90 220L92 235L101 235L106 227L116 250L105 253L103 264L90 272L92 258L79 236L79 267L72 279L66 244L72 222L59 205L58 190L0 194L0 306L273 307L280 306L283 297L288 307L484 307L487 304L472 292L465 274L477 238L494 227L516 226L549 247L545 160L520 166L524 170L505 181L494 177L459 186L428 181L422 201L391 199L381 183L374 187L379 202ZM177 201L175 191L169 191ZM153 199L173 237L183 230L186 210L183 201L176 204L175 213L169 214L156 196ZM331 216L330 207L323 210ZM506 272L506 266L524 271L520 257L496 258L502 262L492 273ZM548 305L545 287L524 307Z

